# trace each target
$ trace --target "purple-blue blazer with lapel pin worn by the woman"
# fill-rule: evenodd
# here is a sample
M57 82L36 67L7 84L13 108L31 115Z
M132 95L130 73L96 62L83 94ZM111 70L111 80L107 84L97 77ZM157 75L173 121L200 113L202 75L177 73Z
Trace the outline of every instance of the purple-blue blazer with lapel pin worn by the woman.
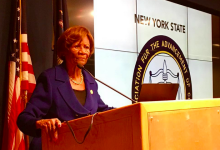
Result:
M63 122L112 109L101 100L96 81L84 70L82 73L87 93L84 106L72 90L64 64L48 69L39 76L30 101L17 119L19 129L34 137L30 150L42 149L41 130L36 129L35 125L37 120L58 118Z

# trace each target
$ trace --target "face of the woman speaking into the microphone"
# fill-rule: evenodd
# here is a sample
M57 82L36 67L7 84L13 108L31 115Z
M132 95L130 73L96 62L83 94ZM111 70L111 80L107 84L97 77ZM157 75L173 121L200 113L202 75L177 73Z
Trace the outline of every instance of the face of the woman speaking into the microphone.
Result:
M74 64L85 65L90 55L90 42L87 36L82 38L82 41L73 43L66 55L66 61L71 61Z

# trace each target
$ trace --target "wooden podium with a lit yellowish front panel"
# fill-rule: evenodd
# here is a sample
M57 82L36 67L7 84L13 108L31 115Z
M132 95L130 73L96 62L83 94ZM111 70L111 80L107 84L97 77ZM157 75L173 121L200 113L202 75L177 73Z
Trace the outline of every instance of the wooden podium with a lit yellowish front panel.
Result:
M92 116L70 121L79 141ZM66 123L57 142L42 131L43 150L219 150L220 99L142 102L98 113L85 142Z

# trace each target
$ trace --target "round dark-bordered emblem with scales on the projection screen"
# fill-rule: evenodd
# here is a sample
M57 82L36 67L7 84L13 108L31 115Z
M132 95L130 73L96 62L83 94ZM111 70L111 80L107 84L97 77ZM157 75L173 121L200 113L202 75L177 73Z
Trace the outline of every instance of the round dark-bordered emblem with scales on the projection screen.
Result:
M177 43L172 40L171 38L163 35L155 36L152 39L150 39L142 48L138 58L137 62L134 68L134 74L133 74L133 80L132 80L132 99L138 100L142 83L144 83L144 78L146 74L146 70L149 67L149 64L156 56L163 56L164 58L172 58L172 61L175 63L177 68L180 70L180 74L177 73L176 75L172 73L171 69L167 69L167 64L164 59L163 61L163 69L161 71L162 77L164 82L166 83L168 79L168 73L172 77L178 78L181 76L181 81L183 82L184 88L184 97L185 99L192 99L192 83L191 83L191 77L190 77L190 71L188 68L187 61L183 55L183 52L181 51L180 47L177 45ZM159 64L156 64L159 65ZM173 65L173 63L172 63ZM158 70L155 74L153 74L152 71L149 71L150 77L156 76L156 74L159 74L160 71ZM151 78L149 79L151 81ZM147 94L147 93L146 93Z

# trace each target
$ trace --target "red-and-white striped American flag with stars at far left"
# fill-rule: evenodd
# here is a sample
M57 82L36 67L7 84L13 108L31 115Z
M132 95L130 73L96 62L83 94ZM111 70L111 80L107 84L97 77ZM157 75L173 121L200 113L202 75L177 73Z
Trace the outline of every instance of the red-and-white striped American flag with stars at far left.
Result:
M27 45L26 2L14 0L12 4L14 4L12 7L13 27L10 40L8 99L2 150L27 150L28 143L25 144L25 136L18 129L16 121L20 112L25 108L36 82Z

